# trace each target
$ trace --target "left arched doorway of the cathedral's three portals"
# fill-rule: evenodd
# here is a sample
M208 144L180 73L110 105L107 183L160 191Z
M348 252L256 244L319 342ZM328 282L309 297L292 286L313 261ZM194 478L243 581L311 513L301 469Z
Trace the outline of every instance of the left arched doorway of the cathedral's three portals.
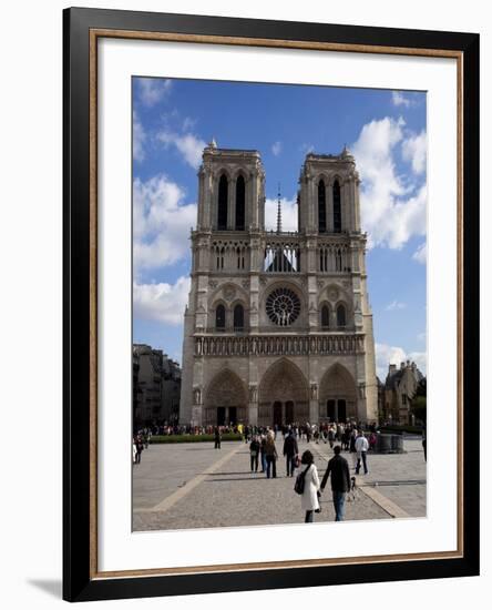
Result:
M205 426L247 423L246 389L232 370L218 373L208 385L203 420Z

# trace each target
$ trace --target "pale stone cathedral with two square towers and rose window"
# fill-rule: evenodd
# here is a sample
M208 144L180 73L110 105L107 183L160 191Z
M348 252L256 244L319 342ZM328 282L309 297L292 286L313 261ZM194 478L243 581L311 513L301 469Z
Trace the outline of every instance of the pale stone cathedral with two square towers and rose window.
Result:
M258 151L213 141L198 172L182 424L377 420L366 234L353 156L309 153L298 231L265 230Z

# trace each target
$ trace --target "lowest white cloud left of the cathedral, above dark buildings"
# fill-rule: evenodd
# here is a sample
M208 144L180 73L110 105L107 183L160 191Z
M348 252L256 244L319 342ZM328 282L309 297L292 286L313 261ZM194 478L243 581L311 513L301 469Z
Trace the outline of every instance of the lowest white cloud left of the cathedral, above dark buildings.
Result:
M133 284L133 312L140 319L182 324L191 279L180 277L175 284Z

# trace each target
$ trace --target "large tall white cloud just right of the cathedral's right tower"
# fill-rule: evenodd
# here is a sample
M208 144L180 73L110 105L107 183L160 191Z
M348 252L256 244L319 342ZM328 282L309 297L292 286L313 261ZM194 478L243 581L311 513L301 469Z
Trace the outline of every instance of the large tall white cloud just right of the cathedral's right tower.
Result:
M406 141L403 129L402 119L375 120L363 125L352 145L362 179L361 215L369 247L399 250L410 237L426 234L426 185L417 189L417 183L406 183L393 159L397 146Z

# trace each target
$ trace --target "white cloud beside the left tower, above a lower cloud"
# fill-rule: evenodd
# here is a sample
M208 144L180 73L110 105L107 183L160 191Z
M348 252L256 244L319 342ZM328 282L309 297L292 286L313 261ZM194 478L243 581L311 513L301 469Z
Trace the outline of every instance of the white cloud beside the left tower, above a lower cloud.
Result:
M133 261L140 270L171 265L189 252L189 228L196 204L184 204L184 192L165 175L133 182Z

